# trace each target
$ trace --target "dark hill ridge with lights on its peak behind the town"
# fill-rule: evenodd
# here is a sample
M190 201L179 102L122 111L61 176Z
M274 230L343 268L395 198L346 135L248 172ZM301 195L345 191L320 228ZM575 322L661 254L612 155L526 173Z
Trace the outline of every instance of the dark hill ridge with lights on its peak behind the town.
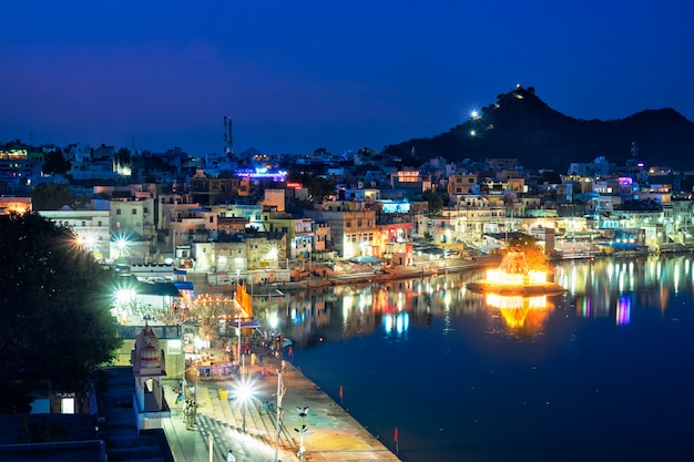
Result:
M499 94L480 114L447 133L388 145L384 154L419 161L518 158L525 168L567 173L571 163L604 156L616 165L630 158L646 166L694 168L694 123L673 109L646 110L613 121L564 115L540 100L532 86ZM635 143L635 144L634 144ZM635 146L636 155L632 146Z

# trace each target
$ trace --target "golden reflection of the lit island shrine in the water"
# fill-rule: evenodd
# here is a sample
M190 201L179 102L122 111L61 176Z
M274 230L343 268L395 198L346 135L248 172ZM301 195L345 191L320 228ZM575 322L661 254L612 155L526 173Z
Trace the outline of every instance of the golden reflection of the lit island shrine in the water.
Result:
M506 325L520 337L530 337L542 330L553 305L547 296L522 297L487 294L487 306L499 309Z

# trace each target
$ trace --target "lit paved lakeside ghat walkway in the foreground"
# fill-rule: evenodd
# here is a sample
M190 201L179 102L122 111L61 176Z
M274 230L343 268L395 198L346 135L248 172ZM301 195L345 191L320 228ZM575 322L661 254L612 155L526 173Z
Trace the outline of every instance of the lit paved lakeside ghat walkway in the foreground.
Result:
M223 352L216 351L215 357L222 358ZM396 454L288 362L282 372L282 387L285 387L286 392L282 402L284 415L280 419L279 440L275 444L277 372L280 368L278 358L264 359L262 365L246 366L248 381L255 391L245 410L235 397L239 378L198 379L197 413L193 429L186 429L182 404L175 403L173 389L177 381L165 380L172 417L163 422L163 427L176 462L225 462L229 449L237 462L299 461L300 434L296 430L302 429L302 417L297 408L308 408L303 420L306 425L305 461L399 461ZM263 369L269 376L257 373ZM195 387L195 382L190 384Z

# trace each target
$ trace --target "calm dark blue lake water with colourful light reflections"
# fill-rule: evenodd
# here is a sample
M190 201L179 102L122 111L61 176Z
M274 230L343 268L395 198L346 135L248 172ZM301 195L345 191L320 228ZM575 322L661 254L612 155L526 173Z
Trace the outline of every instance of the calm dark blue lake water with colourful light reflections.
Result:
M691 256L563 263L548 298L481 276L288 297L294 363L408 462L694 460Z

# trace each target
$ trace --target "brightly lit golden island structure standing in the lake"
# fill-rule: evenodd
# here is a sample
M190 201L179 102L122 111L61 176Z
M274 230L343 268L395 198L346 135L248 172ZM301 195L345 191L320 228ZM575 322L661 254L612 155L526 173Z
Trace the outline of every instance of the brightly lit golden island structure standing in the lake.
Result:
M497 268L488 269L484 279L468 283L468 289L481 294L558 295L567 291L561 285L548 281L548 273L531 269L525 254L514 248L506 254Z

